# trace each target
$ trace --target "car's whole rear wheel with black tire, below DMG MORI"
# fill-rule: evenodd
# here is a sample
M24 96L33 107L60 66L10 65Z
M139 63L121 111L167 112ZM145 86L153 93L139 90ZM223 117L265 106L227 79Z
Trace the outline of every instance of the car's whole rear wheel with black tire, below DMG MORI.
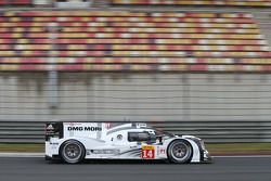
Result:
M60 155L67 164L78 164L85 158L86 150L79 141L68 140L62 143Z

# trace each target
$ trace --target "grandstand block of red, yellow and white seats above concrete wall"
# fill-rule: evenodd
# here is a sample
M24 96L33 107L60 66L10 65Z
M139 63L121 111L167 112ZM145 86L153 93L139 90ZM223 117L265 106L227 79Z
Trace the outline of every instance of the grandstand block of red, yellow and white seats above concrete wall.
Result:
M247 13L5 11L0 25L1 70L271 69Z

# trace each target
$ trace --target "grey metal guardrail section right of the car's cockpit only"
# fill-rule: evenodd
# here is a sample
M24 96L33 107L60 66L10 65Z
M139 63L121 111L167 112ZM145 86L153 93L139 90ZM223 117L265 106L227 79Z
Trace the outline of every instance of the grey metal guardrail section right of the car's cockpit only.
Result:
M165 121L157 128L178 134L192 134L206 142L271 142L271 121Z

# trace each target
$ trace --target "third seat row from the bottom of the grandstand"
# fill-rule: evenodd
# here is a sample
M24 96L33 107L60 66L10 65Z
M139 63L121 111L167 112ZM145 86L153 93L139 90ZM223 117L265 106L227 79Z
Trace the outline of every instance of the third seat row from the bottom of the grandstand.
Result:
M157 50L144 50L144 51L42 51L42 50L20 50L20 51L0 51L0 56L120 56L120 57L258 57L270 56L270 52L245 52L245 51L157 51Z

